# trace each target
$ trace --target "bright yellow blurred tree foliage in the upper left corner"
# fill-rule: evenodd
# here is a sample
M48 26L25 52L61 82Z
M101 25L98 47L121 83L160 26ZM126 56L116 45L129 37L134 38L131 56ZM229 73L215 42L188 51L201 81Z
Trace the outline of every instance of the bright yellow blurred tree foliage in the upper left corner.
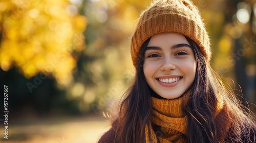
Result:
M76 66L72 51L85 47L87 25L70 6L68 0L1 1L1 68L16 66L26 78L51 73L59 82L70 76Z

